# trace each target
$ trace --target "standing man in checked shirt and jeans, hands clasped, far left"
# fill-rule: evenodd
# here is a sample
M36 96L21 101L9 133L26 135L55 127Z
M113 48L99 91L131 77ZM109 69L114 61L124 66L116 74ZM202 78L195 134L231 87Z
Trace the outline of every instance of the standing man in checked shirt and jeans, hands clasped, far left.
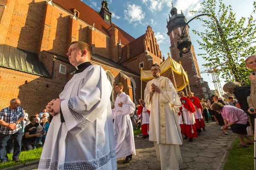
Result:
M10 106L0 111L0 159L1 164L8 161L6 153L7 141L11 136L14 138L14 151L12 160L19 162L21 139L22 139L22 122L23 108L20 108L20 100L12 99Z

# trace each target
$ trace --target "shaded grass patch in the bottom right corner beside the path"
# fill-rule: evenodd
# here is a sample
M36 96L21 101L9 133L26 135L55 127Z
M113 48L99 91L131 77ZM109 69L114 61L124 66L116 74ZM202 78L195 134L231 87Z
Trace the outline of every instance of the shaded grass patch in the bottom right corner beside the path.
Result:
M224 170L253 170L254 169L254 145L247 148L236 148L239 145L239 139L233 144Z

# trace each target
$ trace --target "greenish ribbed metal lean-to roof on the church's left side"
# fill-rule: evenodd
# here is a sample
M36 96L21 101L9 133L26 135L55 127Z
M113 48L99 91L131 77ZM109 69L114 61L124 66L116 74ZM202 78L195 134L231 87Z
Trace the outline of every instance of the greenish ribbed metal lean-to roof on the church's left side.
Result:
M37 54L9 45L0 45L0 67L51 78Z

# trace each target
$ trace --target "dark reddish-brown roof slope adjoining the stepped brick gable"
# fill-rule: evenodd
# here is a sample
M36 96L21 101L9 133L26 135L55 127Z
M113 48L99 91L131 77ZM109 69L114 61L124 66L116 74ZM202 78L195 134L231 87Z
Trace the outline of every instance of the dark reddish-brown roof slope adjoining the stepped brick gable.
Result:
M130 45L130 54L131 57L136 56L137 54L140 54L142 52L145 51L144 48L144 39L145 39L145 34L143 34L142 36L140 36L139 38L137 38L136 40L133 40L132 42L129 43ZM122 47L122 59L119 63L125 62L128 58L127 58L127 45L125 45L124 47Z

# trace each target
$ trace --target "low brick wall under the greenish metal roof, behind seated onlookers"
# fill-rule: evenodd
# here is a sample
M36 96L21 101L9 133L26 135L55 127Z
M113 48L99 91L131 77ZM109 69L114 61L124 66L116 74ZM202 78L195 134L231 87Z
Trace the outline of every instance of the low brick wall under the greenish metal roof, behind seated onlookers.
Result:
M0 67L0 72L0 109L9 106L11 99L19 98L20 107L26 109L29 115L41 113L49 101L58 98L65 85L50 78L7 68Z

